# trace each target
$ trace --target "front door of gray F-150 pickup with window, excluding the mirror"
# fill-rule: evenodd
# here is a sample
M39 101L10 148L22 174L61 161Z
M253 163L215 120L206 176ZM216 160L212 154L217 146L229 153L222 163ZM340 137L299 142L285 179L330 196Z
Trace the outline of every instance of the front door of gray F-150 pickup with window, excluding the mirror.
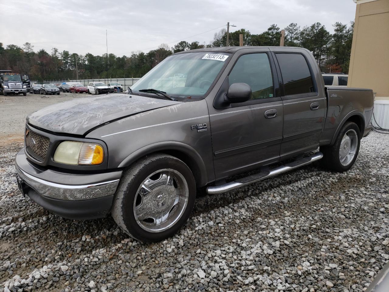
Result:
M268 49L242 54L224 81L221 96L230 84L247 83L250 100L225 109L209 105L216 179L279 161L284 113L282 100L275 96L278 79L273 78L272 62Z

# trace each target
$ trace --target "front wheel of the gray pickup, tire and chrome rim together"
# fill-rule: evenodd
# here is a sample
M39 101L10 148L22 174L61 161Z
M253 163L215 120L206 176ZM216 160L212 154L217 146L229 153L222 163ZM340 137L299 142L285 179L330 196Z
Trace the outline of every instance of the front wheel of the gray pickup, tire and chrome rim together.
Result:
M184 225L195 198L189 167L173 156L154 154L123 174L111 213L117 225L135 239L160 241Z

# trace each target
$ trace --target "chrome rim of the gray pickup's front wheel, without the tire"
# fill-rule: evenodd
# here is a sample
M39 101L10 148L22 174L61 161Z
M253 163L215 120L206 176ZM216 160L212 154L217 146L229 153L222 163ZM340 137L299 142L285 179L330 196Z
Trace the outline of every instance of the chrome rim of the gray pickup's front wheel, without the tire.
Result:
M189 199L186 179L174 169L161 169L149 175L135 195L135 220L148 232L162 232L181 218Z

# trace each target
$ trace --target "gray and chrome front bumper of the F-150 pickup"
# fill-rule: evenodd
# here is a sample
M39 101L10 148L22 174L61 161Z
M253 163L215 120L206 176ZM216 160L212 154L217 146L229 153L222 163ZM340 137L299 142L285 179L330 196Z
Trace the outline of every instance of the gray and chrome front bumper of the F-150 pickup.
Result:
M22 149L15 159L21 192L34 202L70 219L105 217L111 208L122 171L75 174L32 164Z

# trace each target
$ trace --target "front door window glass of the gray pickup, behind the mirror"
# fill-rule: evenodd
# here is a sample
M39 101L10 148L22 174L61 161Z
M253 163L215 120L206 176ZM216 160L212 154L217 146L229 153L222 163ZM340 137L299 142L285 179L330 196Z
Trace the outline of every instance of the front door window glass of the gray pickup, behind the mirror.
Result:
M247 83L251 87L251 98L266 99L273 97L273 77L266 53L241 56L228 76L228 82Z

